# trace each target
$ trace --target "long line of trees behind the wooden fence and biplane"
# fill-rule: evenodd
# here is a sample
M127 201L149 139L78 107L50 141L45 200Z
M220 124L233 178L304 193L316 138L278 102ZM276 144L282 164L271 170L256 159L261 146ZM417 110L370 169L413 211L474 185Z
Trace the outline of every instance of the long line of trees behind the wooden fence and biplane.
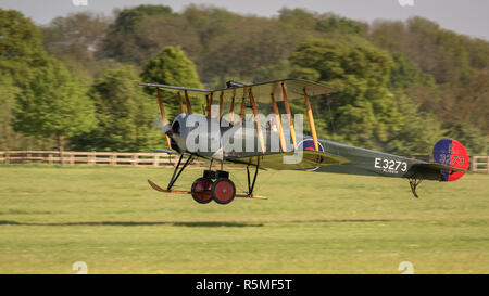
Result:
M0 10L0 37L2 150L163 147L154 93L138 82L289 77L335 89L311 102L322 138L400 154L453 138L488 153L489 42L422 17L367 24L302 9L259 17L139 5L36 26ZM164 95L172 117L176 98Z

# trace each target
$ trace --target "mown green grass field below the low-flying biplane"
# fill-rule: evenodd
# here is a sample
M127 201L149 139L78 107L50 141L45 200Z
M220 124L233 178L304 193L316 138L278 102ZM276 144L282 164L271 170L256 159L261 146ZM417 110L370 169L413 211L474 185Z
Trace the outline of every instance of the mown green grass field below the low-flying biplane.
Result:
M488 273L489 176L261 172L227 206L153 191L168 169L0 166L0 273ZM178 181L188 190L201 175ZM231 171L238 189L246 177Z

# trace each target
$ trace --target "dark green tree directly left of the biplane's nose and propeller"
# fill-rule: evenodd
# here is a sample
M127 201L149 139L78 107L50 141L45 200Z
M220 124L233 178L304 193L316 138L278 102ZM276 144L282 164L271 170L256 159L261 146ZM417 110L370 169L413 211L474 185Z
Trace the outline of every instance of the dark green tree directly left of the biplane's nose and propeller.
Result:
M155 129L155 100L145 93L139 82L131 66L106 70L89 92L97 110L97 128L73 138L73 146L97 151L148 151L161 146L164 136Z

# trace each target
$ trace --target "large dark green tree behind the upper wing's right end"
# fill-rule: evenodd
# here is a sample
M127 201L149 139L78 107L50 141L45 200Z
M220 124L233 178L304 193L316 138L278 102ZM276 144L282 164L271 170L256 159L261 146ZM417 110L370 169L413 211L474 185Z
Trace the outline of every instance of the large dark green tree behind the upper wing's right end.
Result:
M335 89L331 108L341 140L372 149L386 146L389 133L400 125L387 88L393 67L387 53L372 47L312 40L299 46L290 61L299 68L296 75L308 75L299 78L314 76Z

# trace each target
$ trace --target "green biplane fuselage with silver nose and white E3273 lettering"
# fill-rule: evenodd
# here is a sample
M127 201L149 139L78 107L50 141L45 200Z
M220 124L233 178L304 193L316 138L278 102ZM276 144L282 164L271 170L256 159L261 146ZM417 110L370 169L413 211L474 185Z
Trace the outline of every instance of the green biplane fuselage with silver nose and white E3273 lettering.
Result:
M281 153L278 130L269 125L260 124L262 139L260 140L254 121L238 121L229 124L222 119L209 118L199 114L180 114L167 132L174 144L183 152L217 160L231 160L235 157L261 156ZM290 131L284 130L286 151L293 152ZM298 149L311 150L310 136L296 130ZM288 136L288 137L287 137ZM262 151L262 145L265 151ZM411 177L410 170L415 164L426 162L399 155L356 147L335 141L318 139L319 151L330 155L347 158L344 164L318 166L311 170L317 172L335 172L364 176L383 176L394 178ZM439 180L439 175L425 176L425 179Z

